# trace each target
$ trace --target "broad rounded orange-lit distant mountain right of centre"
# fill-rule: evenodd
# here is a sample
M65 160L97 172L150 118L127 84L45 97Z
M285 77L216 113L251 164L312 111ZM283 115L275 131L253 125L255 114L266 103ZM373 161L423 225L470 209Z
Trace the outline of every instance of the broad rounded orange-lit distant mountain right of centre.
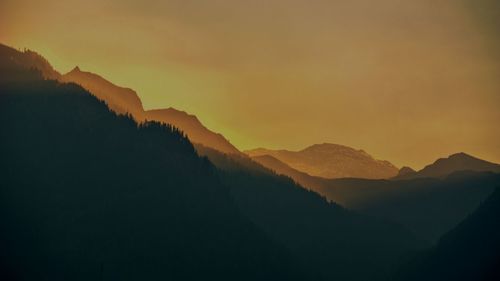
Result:
M288 166L311 176L323 178L391 178L398 169L388 161L376 160L363 150L338 144L315 144L300 151L245 151L249 156L270 155Z

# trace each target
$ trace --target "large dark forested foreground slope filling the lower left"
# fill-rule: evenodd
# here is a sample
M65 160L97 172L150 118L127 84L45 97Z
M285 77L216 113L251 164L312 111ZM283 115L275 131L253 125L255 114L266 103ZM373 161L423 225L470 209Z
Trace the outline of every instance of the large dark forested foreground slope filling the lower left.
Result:
M182 132L41 78L0 83L1 280L309 279Z

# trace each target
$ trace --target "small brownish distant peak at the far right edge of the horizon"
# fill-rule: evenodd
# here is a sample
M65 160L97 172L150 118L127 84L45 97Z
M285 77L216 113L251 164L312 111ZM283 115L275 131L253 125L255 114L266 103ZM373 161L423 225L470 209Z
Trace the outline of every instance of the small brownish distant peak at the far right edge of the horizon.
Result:
M397 178L442 178L458 171L500 173L500 165L481 160L466 153L456 153L447 158L440 158L416 173L398 175Z

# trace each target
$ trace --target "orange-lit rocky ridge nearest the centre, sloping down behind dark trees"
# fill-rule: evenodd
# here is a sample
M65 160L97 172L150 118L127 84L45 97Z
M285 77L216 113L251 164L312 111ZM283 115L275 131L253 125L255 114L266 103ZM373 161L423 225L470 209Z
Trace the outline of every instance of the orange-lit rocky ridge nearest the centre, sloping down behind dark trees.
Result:
M241 154L223 135L207 129L194 115L175 108L148 110L144 113L147 120L172 124L186 133L194 143L200 143L228 154Z

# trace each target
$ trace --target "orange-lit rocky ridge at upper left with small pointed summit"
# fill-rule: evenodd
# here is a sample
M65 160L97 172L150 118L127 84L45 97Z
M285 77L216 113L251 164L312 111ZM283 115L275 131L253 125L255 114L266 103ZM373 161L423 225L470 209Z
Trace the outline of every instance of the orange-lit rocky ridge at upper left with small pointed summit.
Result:
M78 66L62 75L60 80L82 86L100 100L105 101L108 107L116 113L130 113L138 121L144 119L142 102L132 89L116 86L97 74L81 71Z

